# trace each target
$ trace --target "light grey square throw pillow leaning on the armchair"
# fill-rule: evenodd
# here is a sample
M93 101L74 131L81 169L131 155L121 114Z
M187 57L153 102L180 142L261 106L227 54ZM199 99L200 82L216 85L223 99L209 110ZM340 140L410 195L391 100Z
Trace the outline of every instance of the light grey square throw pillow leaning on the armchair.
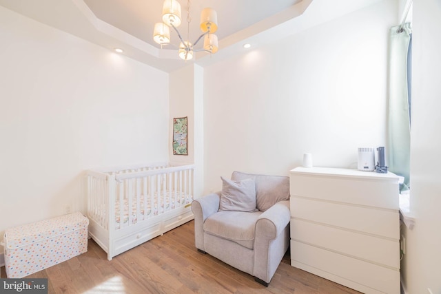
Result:
M256 184L247 178L238 182L222 179L219 211L256 211Z

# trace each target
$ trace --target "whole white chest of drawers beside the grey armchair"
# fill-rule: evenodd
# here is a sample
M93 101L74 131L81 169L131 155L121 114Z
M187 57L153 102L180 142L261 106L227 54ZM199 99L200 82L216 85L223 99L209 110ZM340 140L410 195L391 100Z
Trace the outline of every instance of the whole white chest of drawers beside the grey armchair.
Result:
M363 293L400 293L398 176L290 171L291 266Z

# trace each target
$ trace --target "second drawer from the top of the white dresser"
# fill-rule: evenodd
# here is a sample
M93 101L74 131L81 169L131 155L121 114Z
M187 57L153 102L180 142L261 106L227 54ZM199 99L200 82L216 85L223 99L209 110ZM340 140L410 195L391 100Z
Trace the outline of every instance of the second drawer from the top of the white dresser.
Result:
M372 209L291 196L291 216L334 227L400 239L398 210Z

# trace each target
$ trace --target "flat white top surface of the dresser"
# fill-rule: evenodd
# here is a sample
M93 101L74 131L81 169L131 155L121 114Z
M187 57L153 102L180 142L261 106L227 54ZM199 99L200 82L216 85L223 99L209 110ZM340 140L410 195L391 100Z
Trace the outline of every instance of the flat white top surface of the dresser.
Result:
M391 172L380 174L376 171L359 171L358 169L342 169L335 167L296 167L289 174L305 174L311 176L344 176L348 178L365 178L371 180L398 180L398 176Z

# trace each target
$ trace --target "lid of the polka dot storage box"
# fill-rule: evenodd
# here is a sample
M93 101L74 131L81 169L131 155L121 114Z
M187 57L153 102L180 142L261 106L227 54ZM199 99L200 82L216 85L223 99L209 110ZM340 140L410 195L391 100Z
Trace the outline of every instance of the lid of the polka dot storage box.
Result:
M14 249L88 227L89 220L79 212L6 229L6 248Z

